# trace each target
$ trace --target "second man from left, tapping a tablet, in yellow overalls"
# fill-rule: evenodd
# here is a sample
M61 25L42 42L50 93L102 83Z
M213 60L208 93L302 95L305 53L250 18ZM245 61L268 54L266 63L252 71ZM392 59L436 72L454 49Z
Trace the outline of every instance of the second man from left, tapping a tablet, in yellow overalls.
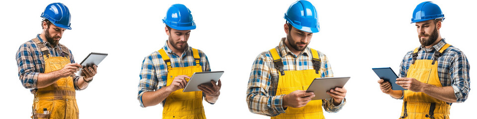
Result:
M162 104L162 119L205 119L202 99L214 104L222 84L211 81L212 86L199 85L201 91L182 92L194 72L210 71L207 56L187 44L196 28L190 10L173 4L162 21L169 39L162 49L144 58L138 86L141 107Z

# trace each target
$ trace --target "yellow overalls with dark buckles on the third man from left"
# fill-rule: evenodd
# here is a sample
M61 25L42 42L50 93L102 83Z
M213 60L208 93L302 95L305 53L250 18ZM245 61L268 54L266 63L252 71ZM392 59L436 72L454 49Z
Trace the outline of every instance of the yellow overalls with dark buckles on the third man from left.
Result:
M310 50L312 52L312 62L315 69L287 71L283 70L283 62L277 50L270 50L273 62L280 71L276 95L290 94L296 90L307 90L315 78L321 77L318 52L314 49ZM285 113L271 117L271 119L324 119L321 103L321 100L312 100L301 108L288 107Z

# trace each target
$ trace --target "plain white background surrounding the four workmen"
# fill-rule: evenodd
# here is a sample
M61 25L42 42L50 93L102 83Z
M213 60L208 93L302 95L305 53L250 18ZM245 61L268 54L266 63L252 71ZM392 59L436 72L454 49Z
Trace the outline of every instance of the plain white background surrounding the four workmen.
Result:
M253 60L278 45L285 37L283 15L295 0L178 0L178 1L60 1L72 14L71 27L60 43L80 62L90 52L108 53L98 74L86 90L77 92L81 119L161 118L160 105L141 108L136 99L139 72L144 57L159 50L167 39L161 19L167 8L183 3L197 24L189 45L204 51L212 70L224 70L221 96L215 105L204 102L209 119L268 119L248 111L246 88ZM19 79L15 53L24 42L41 33L40 15L57 0L2 0L0 115L4 119L28 119L33 95ZM313 0L321 31L309 47L328 56L335 76L351 76L346 84L347 104L328 119L395 119L401 100L379 89L373 67L398 71L406 52L418 47L412 11L422 0L361 1ZM475 75L475 1L434 1L446 19L443 38L467 55ZM473 3L471 3L473 2ZM474 34L474 35L473 35ZM475 83L471 83L471 88ZM455 103L452 119L471 116L476 94L471 90L465 103Z

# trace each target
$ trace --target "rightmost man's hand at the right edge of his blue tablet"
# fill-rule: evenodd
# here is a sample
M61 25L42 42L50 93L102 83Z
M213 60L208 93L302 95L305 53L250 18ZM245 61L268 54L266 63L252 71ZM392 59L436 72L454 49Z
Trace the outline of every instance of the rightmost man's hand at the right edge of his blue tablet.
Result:
M423 87L426 85L415 78L397 78L396 84L412 92L422 92Z

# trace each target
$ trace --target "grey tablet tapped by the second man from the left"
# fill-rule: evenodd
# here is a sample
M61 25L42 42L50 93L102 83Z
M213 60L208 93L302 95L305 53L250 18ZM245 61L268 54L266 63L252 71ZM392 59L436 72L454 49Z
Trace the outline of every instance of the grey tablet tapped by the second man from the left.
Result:
M219 81L220 76L224 71L204 71L204 72L195 72L185 85L184 90L182 92L191 92L191 91L200 91L198 86L200 84L207 84L212 86L210 83L211 80L214 80L216 83Z

